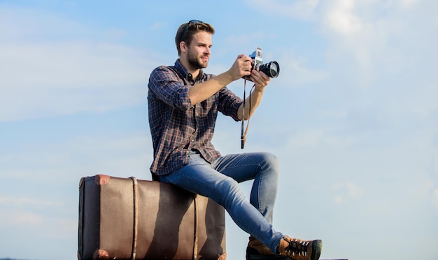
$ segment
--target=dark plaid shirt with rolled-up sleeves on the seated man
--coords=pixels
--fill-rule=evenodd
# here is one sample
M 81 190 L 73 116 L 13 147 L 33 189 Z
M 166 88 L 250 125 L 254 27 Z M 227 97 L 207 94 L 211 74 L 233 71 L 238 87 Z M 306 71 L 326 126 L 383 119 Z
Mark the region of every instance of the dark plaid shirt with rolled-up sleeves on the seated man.
M 190 150 L 196 149 L 210 163 L 220 157 L 211 144 L 218 111 L 239 121 L 237 111 L 243 100 L 227 87 L 205 101 L 192 106 L 188 91 L 192 85 L 215 75 L 200 71 L 197 79 L 181 64 L 160 66 L 150 74 L 148 84 L 149 127 L 154 160 L 150 171 L 166 175 L 190 161 Z

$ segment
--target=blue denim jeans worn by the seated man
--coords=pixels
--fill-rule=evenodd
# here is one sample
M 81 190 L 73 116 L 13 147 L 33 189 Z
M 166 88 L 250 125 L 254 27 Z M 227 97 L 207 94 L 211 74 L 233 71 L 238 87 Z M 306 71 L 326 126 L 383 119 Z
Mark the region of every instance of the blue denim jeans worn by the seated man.
M 239 182 L 254 180 L 248 202 Z M 222 205 L 243 231 L 254 236 L 272 252 L 283 234 L 272 226 L 278 186 L 278 160 L 268 152 L 229 154 L 209 164 L 197 151 L 190 163 L 160 181 L 209 197 Z

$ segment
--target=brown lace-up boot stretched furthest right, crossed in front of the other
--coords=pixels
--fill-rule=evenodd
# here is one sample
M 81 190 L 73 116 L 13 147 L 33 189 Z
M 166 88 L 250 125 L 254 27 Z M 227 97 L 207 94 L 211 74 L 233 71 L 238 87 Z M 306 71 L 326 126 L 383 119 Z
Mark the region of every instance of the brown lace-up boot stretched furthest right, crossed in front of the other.
M 322 240 L 301 240 L 285 236 L 280 240 L 277 254 L 294 260 L 318 260 L 323 250 Z

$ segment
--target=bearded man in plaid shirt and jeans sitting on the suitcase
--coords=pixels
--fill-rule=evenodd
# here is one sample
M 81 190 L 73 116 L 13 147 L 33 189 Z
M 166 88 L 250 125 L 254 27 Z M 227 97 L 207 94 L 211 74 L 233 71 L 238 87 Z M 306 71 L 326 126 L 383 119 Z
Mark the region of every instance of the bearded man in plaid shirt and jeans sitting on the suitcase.
M 319 259 L 321 240 L 304 241 L 275 231 L 272 212 L 277 192 L 278 161 L 267 152 L 222 156 L 211 144 L 218 112 L 242 120 L 243 100 L 227 85 L 249 76 L 255 88 L 248 96 L 259 105 L 270 78 L 251 70 L 252 59 L 239 55 L 220 75 L 206 74 L 214 29 L 198 20 L 181 24 L 175 37 L 179 59 L 150 74 L 148 109 L 153 138 L 155 179 L 169 182 L 222 205 L 234 222 L 250 234 L 248 259 Z M 254 180 L 250 201 L 238 182 Z

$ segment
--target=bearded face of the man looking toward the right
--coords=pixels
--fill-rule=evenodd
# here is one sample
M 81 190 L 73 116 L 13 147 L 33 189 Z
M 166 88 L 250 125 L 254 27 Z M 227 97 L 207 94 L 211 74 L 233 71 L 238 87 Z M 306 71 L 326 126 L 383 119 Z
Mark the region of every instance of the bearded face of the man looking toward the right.
M 206 68 L 211 54 L 211 34 L 199 31 L 194 34 L 187 50 L 187 60 L 192 68 Z

